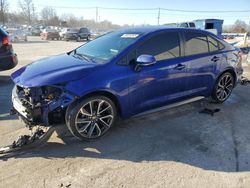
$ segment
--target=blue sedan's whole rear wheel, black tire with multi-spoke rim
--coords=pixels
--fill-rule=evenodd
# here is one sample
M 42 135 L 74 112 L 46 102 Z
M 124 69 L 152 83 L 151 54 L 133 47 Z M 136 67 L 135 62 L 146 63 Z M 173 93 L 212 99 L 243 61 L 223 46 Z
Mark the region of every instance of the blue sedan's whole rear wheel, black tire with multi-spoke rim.
M 223 103 L 231 95 L 234 88 L 235 78 L 229 72 L 222 74 L 216 81 L 212 92 L 212 99 L 215 103 Z

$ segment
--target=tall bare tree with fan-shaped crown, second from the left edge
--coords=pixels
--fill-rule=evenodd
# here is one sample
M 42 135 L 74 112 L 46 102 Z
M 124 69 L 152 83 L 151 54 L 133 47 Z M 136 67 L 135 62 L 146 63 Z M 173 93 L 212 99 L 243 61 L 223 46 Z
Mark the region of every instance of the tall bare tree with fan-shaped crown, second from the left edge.
M 26 18 L 29 25 L 32 24 L 32 21 L 35 19 L 35 6 L 32 0 L 19 0 L 19 6 L 21 12 Z

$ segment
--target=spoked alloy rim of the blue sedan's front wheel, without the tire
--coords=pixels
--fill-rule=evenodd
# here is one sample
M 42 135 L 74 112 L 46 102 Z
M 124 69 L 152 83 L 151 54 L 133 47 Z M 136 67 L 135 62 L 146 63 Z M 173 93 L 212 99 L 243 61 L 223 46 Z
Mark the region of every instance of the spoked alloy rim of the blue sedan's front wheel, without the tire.
M 107 132 L 114 120 L 112 105 L 105 100 L 95 99 L 85 103 L 75 119 L 76 130 L 84 138 L 97 138 Z

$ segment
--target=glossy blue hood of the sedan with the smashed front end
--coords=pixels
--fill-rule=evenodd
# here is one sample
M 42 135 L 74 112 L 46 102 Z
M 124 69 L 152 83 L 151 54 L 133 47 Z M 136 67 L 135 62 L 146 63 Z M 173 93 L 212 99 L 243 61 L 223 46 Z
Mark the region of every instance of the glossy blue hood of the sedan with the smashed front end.
M 98 64 L 62 54 L 22 67 L 14 72 L 11 78 L 17 85 L 23 87 L 54 85 L 85 77 L 97 66 Z

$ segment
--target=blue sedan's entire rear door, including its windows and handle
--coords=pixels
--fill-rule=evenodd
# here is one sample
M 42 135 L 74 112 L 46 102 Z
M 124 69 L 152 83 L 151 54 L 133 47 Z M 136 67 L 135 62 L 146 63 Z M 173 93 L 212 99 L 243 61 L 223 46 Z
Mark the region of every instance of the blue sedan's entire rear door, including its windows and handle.
M 213 87 L 216 63 L 221 61 L 218 43 L 199 31 L 184 31 L 185 61 L 190 95 L 207 95 Z

